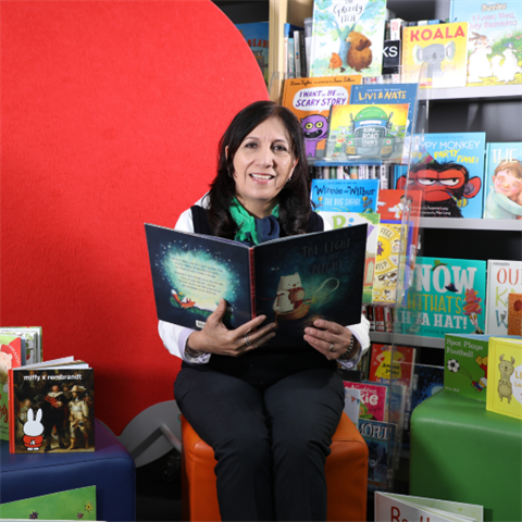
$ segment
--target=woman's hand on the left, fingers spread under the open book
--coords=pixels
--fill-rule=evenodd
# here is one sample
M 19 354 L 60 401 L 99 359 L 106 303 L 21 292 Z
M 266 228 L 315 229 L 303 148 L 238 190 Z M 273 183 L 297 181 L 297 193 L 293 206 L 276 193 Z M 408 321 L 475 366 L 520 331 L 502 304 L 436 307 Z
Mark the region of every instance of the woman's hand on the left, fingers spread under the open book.
M 266 320 L 266 315 L 259 315 L 236 330 L 228 330 L 223 324 L 225 312 L 226 301 L 221 299 L 217 308 L 209 315 L 203 330 L 194 332 L 188 337 L 190 351 L 238 357 L 259 348 L 275 336 L 275 332 L 272 332 L 275 323 L 259 327 Z

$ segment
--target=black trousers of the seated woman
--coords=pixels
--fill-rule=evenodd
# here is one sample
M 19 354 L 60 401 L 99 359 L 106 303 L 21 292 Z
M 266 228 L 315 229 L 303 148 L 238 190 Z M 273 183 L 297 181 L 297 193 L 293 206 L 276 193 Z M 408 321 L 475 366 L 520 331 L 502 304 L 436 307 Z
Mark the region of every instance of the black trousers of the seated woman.
M 324 463 L 345 400 L 339 372 L 306 370 L 259 388 L 183 364 L 174 389 L 214 449 L 224 522 L 326 520 Z

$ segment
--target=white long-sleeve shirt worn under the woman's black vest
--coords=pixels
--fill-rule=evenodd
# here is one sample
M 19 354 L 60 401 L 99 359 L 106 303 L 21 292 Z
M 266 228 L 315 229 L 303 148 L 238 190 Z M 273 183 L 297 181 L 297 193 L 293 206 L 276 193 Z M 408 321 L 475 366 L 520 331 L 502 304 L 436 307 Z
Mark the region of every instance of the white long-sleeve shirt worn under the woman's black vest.
M 196 204 L 206 208 L 208 206 L 206 196 L 203 196 Z M 331 229 L 332 226 L 325 223 L 325 231 Z M 192 213 L 190 209 L 182 213 L 177 220 L 175 229 L 182 232 L 194 232 Z M 356 336 L 357 340 L 361 345 L 361 350 L 349 360 L 337 360 L 343 368 L 351 370 L 361 360 L 361 357 L 370 348 L 370 322 L 361 315 L 361 322 L 359 324 L 351 324 L 347 328 Z M 176 324 L 167 323 L 166 321 L 160 321 L 158 324 L 158 332 L 165 348 L 176 357 L 179 357 L 184 361 L 190 364 L 204 364 L 209 362 L 211 353 L 200 353 L 197 357 L 191 357 L 185 351 L 187 339 L 194 332 L 191 328 L 178 326 Z

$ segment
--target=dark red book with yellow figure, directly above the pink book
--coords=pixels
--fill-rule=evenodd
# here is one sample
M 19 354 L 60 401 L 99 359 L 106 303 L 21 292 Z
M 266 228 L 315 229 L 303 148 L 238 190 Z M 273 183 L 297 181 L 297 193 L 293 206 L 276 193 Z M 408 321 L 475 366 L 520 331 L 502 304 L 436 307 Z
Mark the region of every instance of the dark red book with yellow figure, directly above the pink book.
M 391 363 L 393 352 L 393 363 Z M 415 348 L 409 346 L 382 345 L 372 343 L 370 359 L 369 381 L 374 383 L 401 384 L 411 388 L 413 378 L 413 364 L 415 362 Z

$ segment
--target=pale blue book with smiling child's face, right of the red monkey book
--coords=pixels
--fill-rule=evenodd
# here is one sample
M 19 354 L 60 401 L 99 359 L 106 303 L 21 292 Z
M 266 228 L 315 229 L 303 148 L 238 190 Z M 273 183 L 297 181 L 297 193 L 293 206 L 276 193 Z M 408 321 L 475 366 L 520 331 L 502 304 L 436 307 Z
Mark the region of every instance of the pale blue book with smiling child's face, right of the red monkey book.
M 483 216 L 522 219 L 522 141 L 486 145 Z

